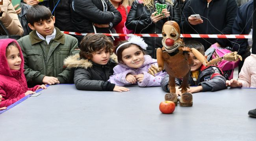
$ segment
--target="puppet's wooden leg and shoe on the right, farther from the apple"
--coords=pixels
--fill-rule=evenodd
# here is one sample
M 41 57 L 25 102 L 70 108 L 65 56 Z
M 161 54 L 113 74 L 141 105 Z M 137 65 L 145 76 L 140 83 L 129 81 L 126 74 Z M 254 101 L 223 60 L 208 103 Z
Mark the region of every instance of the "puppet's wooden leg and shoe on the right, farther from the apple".
M 188 79 L 189 79 L 190 72 L 184 76 L 182 85 L 181 85 L 181 96 L 180 96 L 180 106 L 181 107 L 191 107 L 193 105 L 193 96 L 191 93 L 187 92 L 188 88 Z

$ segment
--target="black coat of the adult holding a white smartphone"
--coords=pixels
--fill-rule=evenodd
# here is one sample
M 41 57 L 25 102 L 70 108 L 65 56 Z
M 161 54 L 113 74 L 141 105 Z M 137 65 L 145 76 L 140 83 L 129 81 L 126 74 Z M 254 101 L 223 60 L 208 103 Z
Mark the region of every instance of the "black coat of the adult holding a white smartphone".
M 232 34 L 232 25 L 237 11 L 236 0 L 212 0 L 207 7 L 207 0 L 188 0 L 180 24 L 181 33 L 184 34 Z M 188 17 L 191 14 L 200 14 L 204 22 L 191 25 Z M 185 42 L 186 39 L 185 38 Z M 230 46 L 227 39 L 220 38 L 194 38 L 208 49 L 218 42 L 222 47 Z M 207 40 L 207 41 L 206 41 Z

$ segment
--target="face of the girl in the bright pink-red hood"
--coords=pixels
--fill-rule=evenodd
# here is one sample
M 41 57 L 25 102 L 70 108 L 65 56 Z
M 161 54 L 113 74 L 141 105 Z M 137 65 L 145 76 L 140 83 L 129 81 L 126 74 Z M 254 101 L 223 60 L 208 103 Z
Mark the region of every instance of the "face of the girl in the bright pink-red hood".
M 20 70 L 20 52 L 19 49 L 13 45 L 10 46 L 9 54 L 6 56 L 7 63 L 11 70 Z

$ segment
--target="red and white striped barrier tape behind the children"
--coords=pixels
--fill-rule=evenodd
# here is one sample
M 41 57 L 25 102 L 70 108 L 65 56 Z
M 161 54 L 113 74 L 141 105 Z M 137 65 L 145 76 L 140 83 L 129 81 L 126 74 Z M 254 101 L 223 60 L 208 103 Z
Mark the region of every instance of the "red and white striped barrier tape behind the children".
M 72 34 L 72 35 L 83 35 L 85 36 L 88 33 L 76 33 L 76 32 L 68 32 L 68 31 L 61 31 L 65 34 Z M 141 37 L 162 37 L 162 34 L 110 34 L 110 33 L 101 33 L 106 36 L 132 36 L 137 35 Z M 225 34 L 180 34 L 180 37 L 182 38 L 239 38 L 239 39 L 251 39 L 252 35 L 239 35 L 239 34 L 233 34 L 233 35 L 225 35 Z

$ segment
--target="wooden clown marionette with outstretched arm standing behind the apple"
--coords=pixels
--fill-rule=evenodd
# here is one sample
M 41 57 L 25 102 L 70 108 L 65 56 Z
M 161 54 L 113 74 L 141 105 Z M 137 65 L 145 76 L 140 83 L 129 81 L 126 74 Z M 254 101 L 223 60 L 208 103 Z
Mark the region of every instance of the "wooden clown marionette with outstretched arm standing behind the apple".
M 179 99 L 180 106 L 191 107 L 193 105 L 193 96 L 191 93 L 187 92 L 187 88 L 189 88 L 188 80 L 190 69 L 194 64 L 189 53 L 193 53 L 205 66 L 216 64 L 222 59 L 228 61 L 242 60 L 237 52 L 231 52 L 225 54 L 223 57 L 208 62 L 196 49 L 185 47 L 183 40 L 180 38 L 179 25 L 174 21 L 165 22 L 162 29 L 162 35 L 163 47 L 158 48 L 156 51 L 158 67 L 152 65 L 148 69 L 148 73 L 154 75 L 164 69 L 169 74 L 170 93 L 165 94 L 165 100 L 173 101 L 175 105 L 177 105 L 178 102 L 175 89 L 175 78 L 183 78 L 182 85 L 180 86 L 182 92 Z

